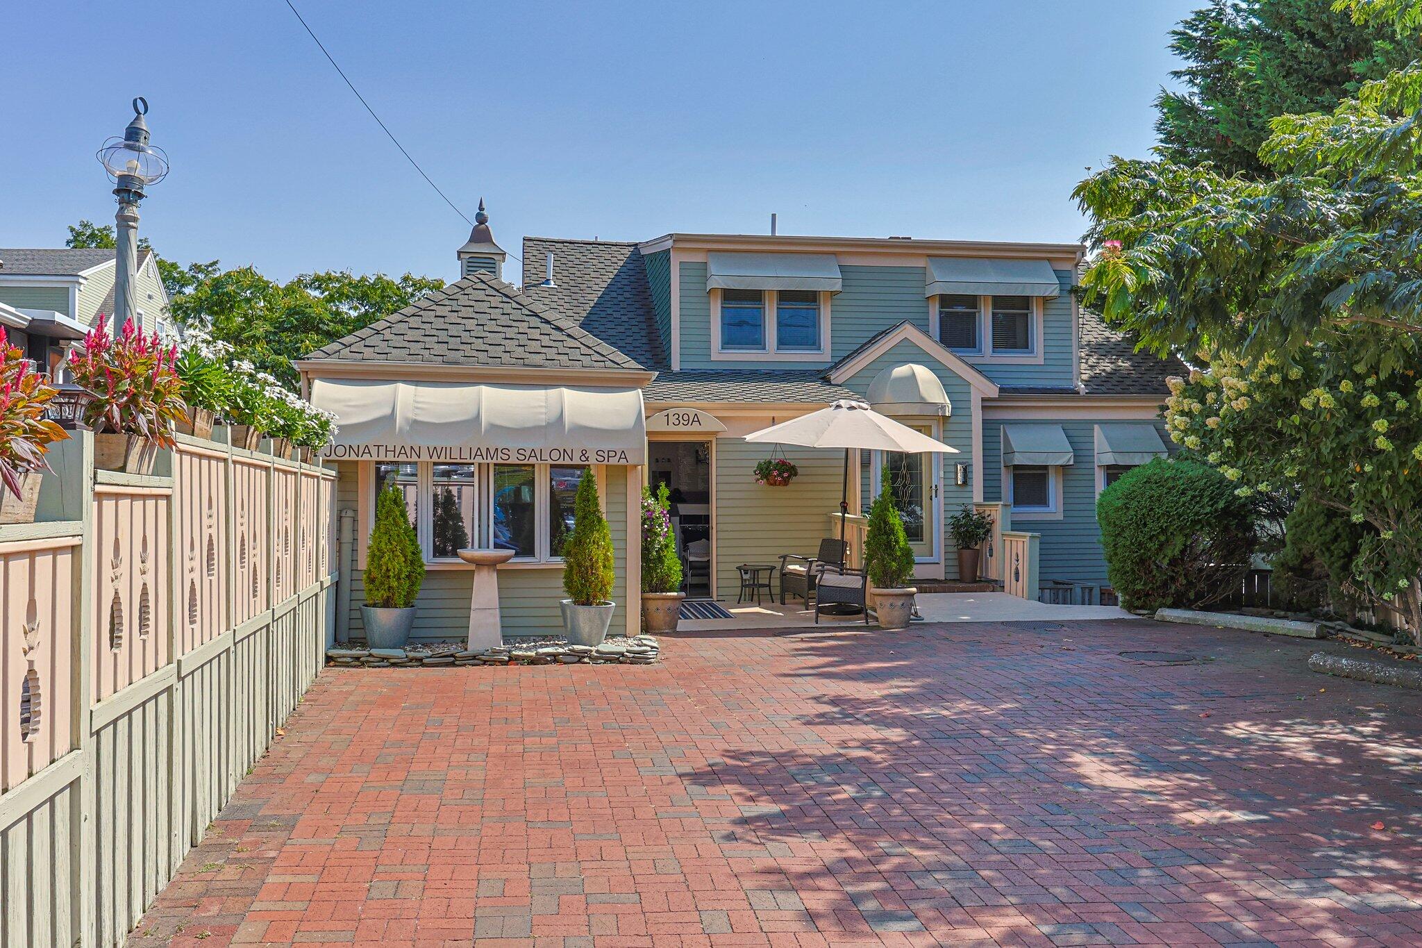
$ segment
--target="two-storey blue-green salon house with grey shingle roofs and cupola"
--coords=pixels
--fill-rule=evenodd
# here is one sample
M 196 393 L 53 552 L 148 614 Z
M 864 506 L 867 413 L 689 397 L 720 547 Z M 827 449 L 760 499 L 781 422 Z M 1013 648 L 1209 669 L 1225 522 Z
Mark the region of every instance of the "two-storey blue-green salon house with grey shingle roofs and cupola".
M 619 492 L 627 486 L 619 509 L 634 510 L 640 483 L 673 490 L 683 549 L 704 542 L 695 551 L 707 553 L 691 557 L 693 593 L 735 597 L 738 564 L 813 553 L 832 532 L 843 455 L 784 446 L 799 478 L 786 488 L 759 486 L 752 469 L 771 451 L 741 436 L 840 398 L 867 399 L 960 452 L 856 452 L 853 509 L 867 509 L 889 478 L 920 578 L 957 576 L 947 519 L 963 505 L 1001 502 L 1011 505 L 1014 529 L 1041 534 L 1044 583 L 1105 583 L 1096 495 L 1128 466 L 1167 453 L 1159 421 L 1165 379 L 1185 368 L 1136 352 L 1076 304 L 1084 253 L 1076 243 L 900 237 L 529 237 L 516 290 L 505 281 L 506 254 L 485 217 L 459 250 L 464 279 L 313 352 L 299 368 L 319 402 L 363 421 L 343 424 L 331 452 L 360 529 L 368 529 L 374 485 L 397 476 L 407 486 L 432 566 L 422 597 L 441 605 L 421 621 L 435 625 L 462 621 L 455 604 L 469 588 L 451 551 L 432 544 L 437 502 L 455 480 L 469 497 L 471 543 L 509 546 L 508 537 L 523 532 L 530 539 L 513 543 L 515 564 L 557 564 L 550 536 L 566 478 L 562 455 L 536 448 L 520 459 L 498 449 L 576 438 L 539 441 L 529 418 L 502 421 L 489 408 L 499 385 L 518 387 L 529 405 L 583 385 L 640 389 L 646 455 L 626 470 L 607 470 Z M 383 385 L 394 392 L 385 408 L 370 398 Z M 458 408 L 476 401 L 482 409 Z M 540 412 L 550 428 L 572 415 Z M 371 418 L 384 421 L 365 424 Z M 610 411 L 606 418 L 610 436 L 621 422 Z M 441 455 L 447 443 L 479 448 Z M 526 488 L 522 500 L 503 503 L 515 482 Z M 553 598 L 557 578 L 550 569 L 543 583 Z M 348 621 L 358 628 L 357 617 Z M 518 607 L 505 621 L 556 625 L 556 617 Z M 627 621 L 630 628 L 630 614 Z

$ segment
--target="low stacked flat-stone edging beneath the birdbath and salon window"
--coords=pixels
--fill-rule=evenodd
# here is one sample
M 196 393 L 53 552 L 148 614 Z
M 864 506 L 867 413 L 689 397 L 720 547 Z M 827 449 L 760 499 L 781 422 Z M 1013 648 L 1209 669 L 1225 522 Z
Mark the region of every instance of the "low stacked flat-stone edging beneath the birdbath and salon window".
M 464 642 L 421 642 L 405 648 L 326 650 L 333 668 L 469 668 L 475 665 L 654 665 L 661 655 L 656 635 L 609 638 L 602 645 L 569 645 L 556 638 L 513 640 L 469 651 Z

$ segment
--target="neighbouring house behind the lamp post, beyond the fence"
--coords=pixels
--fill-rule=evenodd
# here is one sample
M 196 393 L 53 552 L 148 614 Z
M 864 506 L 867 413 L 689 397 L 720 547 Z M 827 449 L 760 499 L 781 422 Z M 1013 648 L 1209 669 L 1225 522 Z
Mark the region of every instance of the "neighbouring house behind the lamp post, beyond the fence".
M 0 247 L 0 303 L 27 320 L 7 330 L 10 338 L 53 370 L 68 344 L 84 338 L 101 316 L 112 317 L 115 271 L 114 250 Z M 152 250 L 138 252 L 137 287 L 139 327 L 168 328 L 168 291 Z

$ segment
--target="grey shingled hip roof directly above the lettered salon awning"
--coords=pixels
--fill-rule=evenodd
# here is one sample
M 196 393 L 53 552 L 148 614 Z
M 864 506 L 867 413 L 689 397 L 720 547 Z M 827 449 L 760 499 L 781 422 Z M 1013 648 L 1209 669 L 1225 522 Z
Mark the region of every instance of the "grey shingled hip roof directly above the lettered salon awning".
M 474 273 L 311 352 L 313 360 L 637 370 L 616 348 L 489 273 Z

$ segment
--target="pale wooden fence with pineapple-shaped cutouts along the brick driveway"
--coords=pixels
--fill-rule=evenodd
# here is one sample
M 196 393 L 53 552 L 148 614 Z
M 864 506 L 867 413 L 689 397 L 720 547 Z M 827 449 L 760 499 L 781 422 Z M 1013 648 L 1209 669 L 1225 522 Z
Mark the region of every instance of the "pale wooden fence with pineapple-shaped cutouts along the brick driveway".
M 219 438 L 0 526 L 4 948 L 122 944 L 321 667 L 334 473 Z

